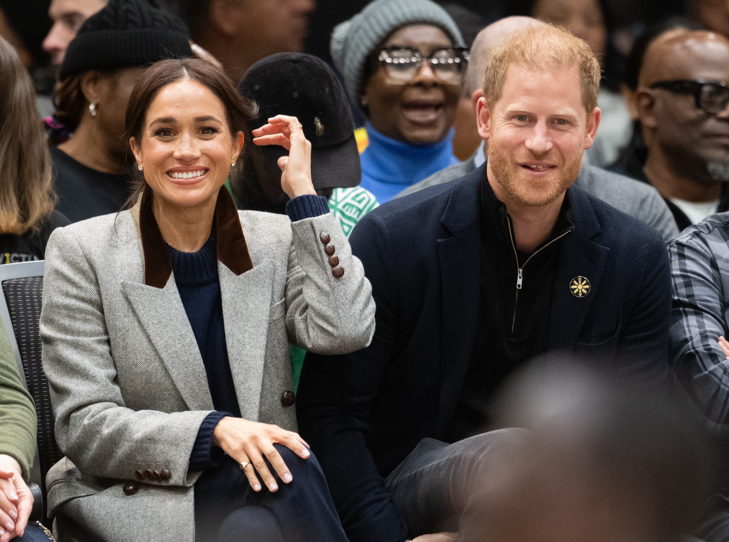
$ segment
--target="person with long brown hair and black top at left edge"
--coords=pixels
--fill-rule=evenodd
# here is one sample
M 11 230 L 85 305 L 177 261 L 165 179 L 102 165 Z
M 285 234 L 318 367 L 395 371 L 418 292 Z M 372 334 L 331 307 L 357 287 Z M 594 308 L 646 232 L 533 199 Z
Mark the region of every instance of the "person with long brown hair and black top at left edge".
M 0 264 L 44 259 L 53 229 L 69 224 L 54 198 L 33 82 L 0 37 Z

